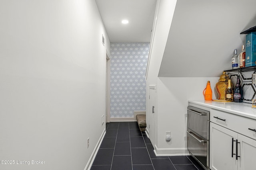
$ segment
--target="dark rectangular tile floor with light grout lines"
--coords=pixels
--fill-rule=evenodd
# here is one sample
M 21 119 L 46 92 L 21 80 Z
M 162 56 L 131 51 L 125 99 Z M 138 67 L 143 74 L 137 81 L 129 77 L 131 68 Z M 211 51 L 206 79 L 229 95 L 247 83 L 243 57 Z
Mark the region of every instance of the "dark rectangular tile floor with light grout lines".
M 156 156 L 137 122 L 111 122 L 91 170 L 203 170 L 191 156 Z

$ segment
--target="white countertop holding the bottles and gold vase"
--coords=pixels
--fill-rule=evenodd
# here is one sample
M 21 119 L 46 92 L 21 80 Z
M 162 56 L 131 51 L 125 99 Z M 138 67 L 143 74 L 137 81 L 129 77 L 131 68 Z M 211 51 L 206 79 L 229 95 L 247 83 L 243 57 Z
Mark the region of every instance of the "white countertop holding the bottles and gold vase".
M 256 120 L 256 108 L 253 109 L 252 104 L 205 100 L 188 100 L 188 102 Z

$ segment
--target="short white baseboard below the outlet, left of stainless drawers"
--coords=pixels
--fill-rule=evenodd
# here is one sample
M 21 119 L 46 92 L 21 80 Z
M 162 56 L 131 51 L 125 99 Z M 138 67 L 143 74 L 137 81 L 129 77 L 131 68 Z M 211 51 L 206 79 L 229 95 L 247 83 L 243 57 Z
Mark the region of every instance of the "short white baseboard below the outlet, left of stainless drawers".
M 188 156 L 189 151 L 187 148 L 157 148 L 155 145 L 154 150 L 156 156 Z

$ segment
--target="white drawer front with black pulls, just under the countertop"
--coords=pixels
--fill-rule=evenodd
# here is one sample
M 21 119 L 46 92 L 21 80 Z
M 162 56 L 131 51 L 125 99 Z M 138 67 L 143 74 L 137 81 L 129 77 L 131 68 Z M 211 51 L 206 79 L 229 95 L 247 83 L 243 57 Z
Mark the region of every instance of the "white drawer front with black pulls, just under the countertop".
M 256 139 L 256 121 L 230 113 L 210 109 L 210 121 L 232 131 Z

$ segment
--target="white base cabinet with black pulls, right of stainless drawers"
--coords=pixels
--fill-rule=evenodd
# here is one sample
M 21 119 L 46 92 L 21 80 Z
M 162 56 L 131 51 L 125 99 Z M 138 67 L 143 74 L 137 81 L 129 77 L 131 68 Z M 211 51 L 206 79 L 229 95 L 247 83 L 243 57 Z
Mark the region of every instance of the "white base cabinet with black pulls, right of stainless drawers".
M 214 109 L 210 121 L 210 169 L 256 169 L 256 121 Z

